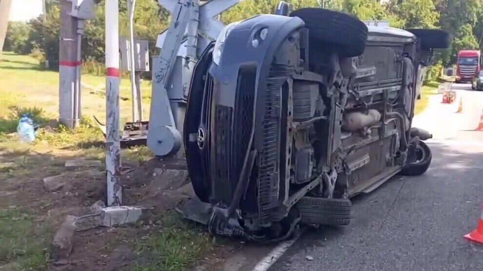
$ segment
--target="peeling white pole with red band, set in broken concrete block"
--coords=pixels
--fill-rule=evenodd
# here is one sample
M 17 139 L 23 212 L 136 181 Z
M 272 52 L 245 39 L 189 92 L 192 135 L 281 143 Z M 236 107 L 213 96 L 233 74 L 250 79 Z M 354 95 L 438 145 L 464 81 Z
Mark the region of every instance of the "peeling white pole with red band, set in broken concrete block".
M 122 204 L 119 133 L 119 3 L 106 0 L 106 170 L 107 204 Z

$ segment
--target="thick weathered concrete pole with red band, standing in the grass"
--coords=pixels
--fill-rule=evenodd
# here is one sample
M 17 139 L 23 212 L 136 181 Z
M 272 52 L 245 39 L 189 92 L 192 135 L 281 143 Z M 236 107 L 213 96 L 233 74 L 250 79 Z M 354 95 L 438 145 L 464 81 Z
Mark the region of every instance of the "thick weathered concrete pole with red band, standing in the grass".
M 80 118 L 79 91 L 77 84 L 78 66 L 82 63 L 78 55 L 80 40 L 77 33 L 78 19 L 70 16 L 72 2 L 60 1 L 59 41 L 59 121 L 74 128 Z

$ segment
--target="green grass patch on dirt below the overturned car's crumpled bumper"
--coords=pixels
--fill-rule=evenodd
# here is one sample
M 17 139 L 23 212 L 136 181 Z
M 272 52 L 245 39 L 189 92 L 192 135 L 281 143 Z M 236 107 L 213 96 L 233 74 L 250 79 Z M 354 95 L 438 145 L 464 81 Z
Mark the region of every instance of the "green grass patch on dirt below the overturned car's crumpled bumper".
M 136 264 L 133 271 L 184 271 L 212 249 L 211 237 L 204 227 L 186 223 L 174 213 L 165 215 L 163 227 L 146 241 L 139 240 L 137 250 L 151 264 Z

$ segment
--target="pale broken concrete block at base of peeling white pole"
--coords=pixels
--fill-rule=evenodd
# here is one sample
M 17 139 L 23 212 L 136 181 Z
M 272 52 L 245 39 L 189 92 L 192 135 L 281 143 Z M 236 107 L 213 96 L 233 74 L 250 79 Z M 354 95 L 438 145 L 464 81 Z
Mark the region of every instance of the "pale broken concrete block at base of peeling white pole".
M 100 212 L 101 225 L 104 227 L 116 227 L 124 224 L 132 224 L 142 219 L 146 209 L 134 206 L 111 206 L 103 208 Z

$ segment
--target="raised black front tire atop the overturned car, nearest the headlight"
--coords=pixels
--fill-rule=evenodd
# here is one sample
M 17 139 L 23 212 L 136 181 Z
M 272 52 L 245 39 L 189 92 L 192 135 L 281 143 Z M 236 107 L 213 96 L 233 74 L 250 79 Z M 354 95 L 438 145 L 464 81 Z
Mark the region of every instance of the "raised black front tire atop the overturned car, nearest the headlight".
M 328 45 L 341 57 L 364 53 L 367 26 L 348 14 L 322 8 L 295 10 L 291 17 L 301 18 L 309 29 L 309 47 L 317 49 Z

